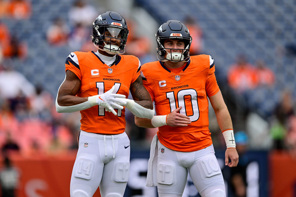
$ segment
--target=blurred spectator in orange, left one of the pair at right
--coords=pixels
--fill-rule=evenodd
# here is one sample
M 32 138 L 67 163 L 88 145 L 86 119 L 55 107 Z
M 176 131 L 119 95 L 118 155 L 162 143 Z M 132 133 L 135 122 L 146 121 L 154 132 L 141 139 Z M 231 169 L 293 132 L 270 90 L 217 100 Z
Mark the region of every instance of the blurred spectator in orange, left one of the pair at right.
M 253 89 L 257 84 L 255 67 L 247 62 L 245 55 L 237 56 L 237 63 L 229 67 L 228 83 L 231 88 L 239 93 Z

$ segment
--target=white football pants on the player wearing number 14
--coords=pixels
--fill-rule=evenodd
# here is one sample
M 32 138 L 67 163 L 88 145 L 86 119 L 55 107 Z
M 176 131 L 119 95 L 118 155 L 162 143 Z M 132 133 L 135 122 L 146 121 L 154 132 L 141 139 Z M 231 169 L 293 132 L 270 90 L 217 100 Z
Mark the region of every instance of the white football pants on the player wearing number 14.
M 99 135 L 80 131 L 74 163 L 71 197 L 122 197 L 129 177 L 130 140 L 126 133 Z

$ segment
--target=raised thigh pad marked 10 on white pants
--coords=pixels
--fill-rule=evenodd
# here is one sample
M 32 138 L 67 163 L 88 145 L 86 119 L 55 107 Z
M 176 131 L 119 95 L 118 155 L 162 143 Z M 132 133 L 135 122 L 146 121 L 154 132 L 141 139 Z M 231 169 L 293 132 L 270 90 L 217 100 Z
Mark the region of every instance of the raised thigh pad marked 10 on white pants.
M 221 174 L 221 169 L 215 155 L 203 158 L 197 163 L 203 180 L 207 180 L 214 175 Z

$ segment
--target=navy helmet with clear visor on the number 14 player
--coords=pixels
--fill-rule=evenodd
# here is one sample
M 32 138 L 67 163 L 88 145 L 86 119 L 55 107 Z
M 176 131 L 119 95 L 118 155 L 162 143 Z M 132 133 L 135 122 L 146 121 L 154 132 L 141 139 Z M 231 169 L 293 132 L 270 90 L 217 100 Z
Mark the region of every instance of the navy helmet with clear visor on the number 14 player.
M 128 39 L 126 20 L 117 12 L 104 12 L 93 23 L 93 36 L 91 38 L 95 46 L 98 45 L 103 48 L 97 47 L 100 50 L 104 50 L 109 54 L 122 54 L 120 51 L 124 50 Z M 110 38 L 110 41 L 105 41 L 105 38 Z M 111 44 L 111 38 L 120 39 L 120 45 Z

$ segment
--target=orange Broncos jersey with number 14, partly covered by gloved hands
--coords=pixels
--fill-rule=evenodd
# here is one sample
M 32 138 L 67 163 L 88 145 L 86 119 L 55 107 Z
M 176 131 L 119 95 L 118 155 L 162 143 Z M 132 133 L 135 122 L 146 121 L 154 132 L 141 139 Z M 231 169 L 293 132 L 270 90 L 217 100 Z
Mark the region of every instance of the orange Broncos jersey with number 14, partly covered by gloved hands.
M 93 51 L 76 51 L 67 57 L 65 66 L 66 71 L 72 71 L 81 80 L 78 97 L 100 95 L 116 85 L 116 93 L 126 95 L 127 98 L 131 83 L 140 75 L 139 59 L 131 55 L 117 55 L 115 64 L 109 67 Z M 99 105 L 81 110 L 81 130 L 91 133 L 123 133 L 126 127 L 125 108 L 115 111 L 116 116 Z

